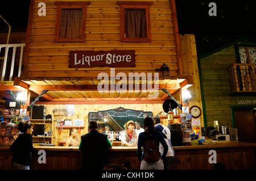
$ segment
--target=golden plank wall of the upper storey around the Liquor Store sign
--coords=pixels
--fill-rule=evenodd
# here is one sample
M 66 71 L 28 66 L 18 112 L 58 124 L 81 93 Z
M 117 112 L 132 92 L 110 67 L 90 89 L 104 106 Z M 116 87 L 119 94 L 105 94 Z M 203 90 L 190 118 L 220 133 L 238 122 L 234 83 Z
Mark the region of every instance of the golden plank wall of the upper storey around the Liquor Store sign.
M 55 0 L 54 0 L 55 1 Z M 90 1 L 87 7 L 85 42 L 55 43 L 56 5 L 53 0 L 35 0 L 31 24 L 27 77 L 97 77 L 110 68 L 68 68 L 70 50 L 135 50 L 135 68 L 116 68 L 118 72 L 155 72 L 166 63 L 170 74 L 178 74 L 174 21 L 168 0 L 150 6 L 152 41 L 120 41 L 120 7 L 117 1 Z M 137 0 L 136 0 L 137 1 Z M 38 15 L 38 3 L 46 3 L 46 16 Z

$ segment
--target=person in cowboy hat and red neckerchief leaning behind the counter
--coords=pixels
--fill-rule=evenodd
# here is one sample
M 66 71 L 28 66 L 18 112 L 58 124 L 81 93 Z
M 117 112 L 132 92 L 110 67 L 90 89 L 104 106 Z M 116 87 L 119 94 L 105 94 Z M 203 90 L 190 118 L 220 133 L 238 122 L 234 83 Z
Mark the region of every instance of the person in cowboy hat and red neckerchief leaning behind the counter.
M 134 121 L 128 121 L 123 127 L 125 131 L 121 133 L 121 146 L 137 146 L 137 144 L 132 142 L 133 138 L 137 138 L 137 133 L 134 131 L 135 128 Z

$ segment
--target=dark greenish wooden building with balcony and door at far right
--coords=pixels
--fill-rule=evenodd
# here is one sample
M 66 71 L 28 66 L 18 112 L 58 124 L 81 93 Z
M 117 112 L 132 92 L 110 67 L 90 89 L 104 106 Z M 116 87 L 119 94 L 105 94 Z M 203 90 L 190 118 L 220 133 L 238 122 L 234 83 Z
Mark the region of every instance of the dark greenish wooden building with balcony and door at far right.
M 237 128 L 238 141 L 255 142 L 256 41 L 243 37 L 199 57 L 204 125 Z

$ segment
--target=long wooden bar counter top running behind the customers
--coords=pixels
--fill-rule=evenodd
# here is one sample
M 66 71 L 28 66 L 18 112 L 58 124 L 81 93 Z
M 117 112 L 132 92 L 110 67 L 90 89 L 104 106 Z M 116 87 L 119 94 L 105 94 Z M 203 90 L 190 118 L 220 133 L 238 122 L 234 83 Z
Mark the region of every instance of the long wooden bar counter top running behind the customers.
M 191 150 L 191 149 L 210 149 L 210 148 L 234 148 L 234 147 L 251 147 L 256 143 L 237 142 L 237 141 L 216 141 L 214 145 L 191 145 L 191 146 L 173 146 L 174 150 Z M 0 150 L 9 150 L 9 146 L 0 147 Z M 35 150 L 49 151 L 79 151 L 78 146 L 34 146 Z M 113 146 L 110 151 L 137 151 L 137 147 Z

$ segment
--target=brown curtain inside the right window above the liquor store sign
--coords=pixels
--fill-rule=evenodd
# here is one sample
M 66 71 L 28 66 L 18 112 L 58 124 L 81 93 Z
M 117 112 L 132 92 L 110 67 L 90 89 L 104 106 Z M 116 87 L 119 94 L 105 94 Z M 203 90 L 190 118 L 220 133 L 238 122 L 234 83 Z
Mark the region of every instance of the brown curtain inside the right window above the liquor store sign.
M 125 9 L 125 37 L 146 38 L 146 9 Z

